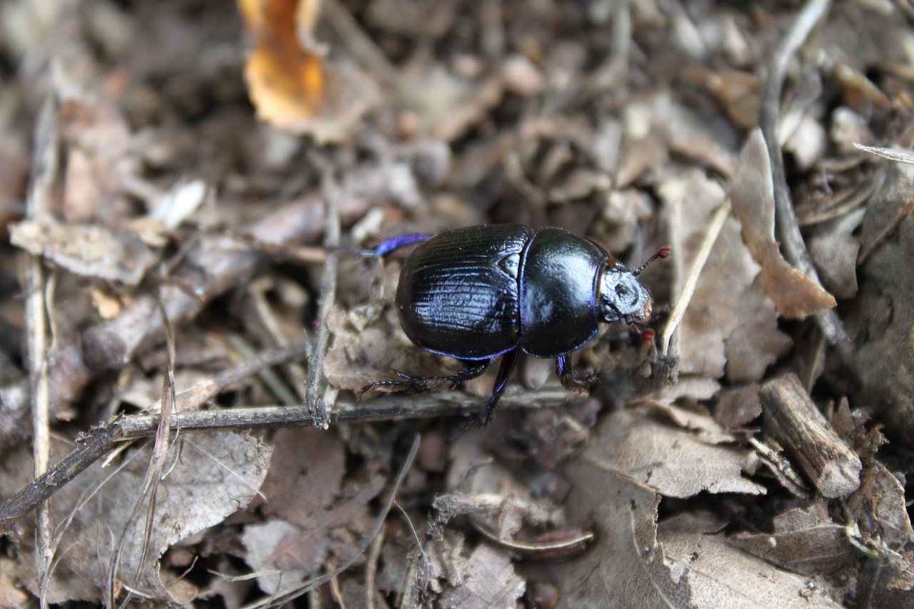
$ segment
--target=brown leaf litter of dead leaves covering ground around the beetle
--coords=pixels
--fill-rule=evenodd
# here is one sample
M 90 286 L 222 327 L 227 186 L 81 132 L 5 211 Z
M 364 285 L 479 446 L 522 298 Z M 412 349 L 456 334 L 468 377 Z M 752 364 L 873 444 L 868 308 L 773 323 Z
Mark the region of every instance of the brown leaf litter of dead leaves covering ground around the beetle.
M 911 604 L 908 8 L 46 8 L 0 11 L 0 226 L 12 246 L 0 251 L 0 499 L 34 475 L 33 408 L 59 436 L 52 466 L 97 441 L 100 420 L 149 416 L 168 324 L 176 389 L 219 388 L 186 394 L 197 402 L 175 420 L 256 414 L 181 431 L 154 506 L 137 503 L 147 448 L 122 446 L 104 467 L 93 457 L 54 487 L 55 527 L 85 503 L 53 529 L 53 548 L 36 547 L 41 512 L 0 518 L 0 604 L 33 602 L 35 557 L 48 555 L 45 599 L 60 604 L 262 606 L 352 561 L 315 602 Z M 768 80 L 779 73 L 782 90 Z M 780 134 L 766 142 L 770 91 L 782 92 Z M 56 131 L 39 128 L 46 99 Z M 800 243 L 783 229 L 781 175 Z M 299 429 L 311 421 L 295 397 L 302 366 L 262 379 L 219 369 L 319 329 L 326 205 L 342 219 L 341 260 L 390 235 L 482 222 L 562 226 L 628 262 L 671 243 L 673 258 L 641 278 L 658 326 L 680 298 L 685 314 L 656 358 L 624 328 L 601 333 L 573 362 L 600 369 L 600 383 L 565 410 L 526 399 L 561 391 L 552 364 L 522 363 L 507 401 L 524 408 L 445 443 L 462 423 L 412 421 L 418 396 L 354 402 L 391 369 L 454 364 L 399 329 L 401 257 L 344 261 L 317 389 L 331 416 L 345 405 L 377 419 L 387 403 L 391 422 Z M 798 250 L 821 284 L 794 267 Z M 48 272 L 44 317 L 27 316 L 16 256 Z M 824 312 L 852 342 L 829 343 Z M 21 347 L 36 323 L 49 329 L 45 404 L 29 402 L 41 371 Z M 824 411 L 816 425 L 836 433 L 774 437 L 792 404 L 760 392 L 790 372 L 799 401 Z M 491 374 L 467 389 L 486 395 Z M 443 408 L 453 395 L 431 399 Z M 356 555 L 416 429 L 401 510 Z M 816 459 L 838 453 L 862 469 L 856 490 L 826 499 Z M 153 520 L 127 531 L 118 598 L 106 599 L 137 505 Z

